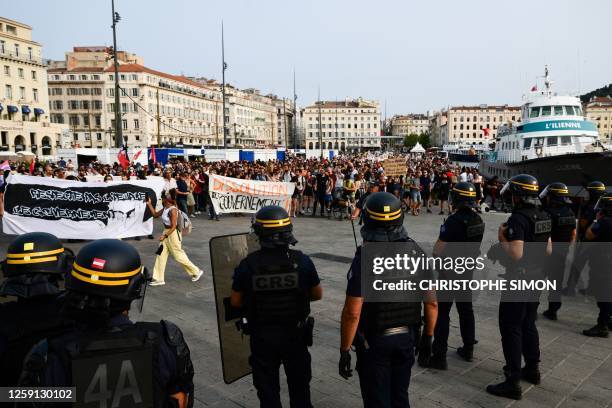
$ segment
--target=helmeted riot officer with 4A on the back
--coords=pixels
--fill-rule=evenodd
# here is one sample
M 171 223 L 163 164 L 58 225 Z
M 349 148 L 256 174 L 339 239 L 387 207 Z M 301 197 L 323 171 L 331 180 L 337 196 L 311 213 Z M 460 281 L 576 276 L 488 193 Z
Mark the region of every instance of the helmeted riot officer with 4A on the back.
M 99 406 L 191 407 L 194 371 L 181 330 L 128 318 L 148 280 L 126 242 L 83 246 L 66 276 L 63 309 L 77 327 L 32 348 L 20 385 L 74 386 L 78 402 Z

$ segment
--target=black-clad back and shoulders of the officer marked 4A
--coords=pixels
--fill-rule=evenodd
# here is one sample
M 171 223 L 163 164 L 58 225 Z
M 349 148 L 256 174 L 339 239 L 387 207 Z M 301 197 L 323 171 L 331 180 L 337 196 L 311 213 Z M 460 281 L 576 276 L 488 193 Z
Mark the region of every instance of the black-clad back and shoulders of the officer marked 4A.
M 178 331 L 178 335 L 177 335 Z M 165 342 L 176 357 L 176 367 L 165 367 L 160 345 Z M 139 322 L 113 326 L 99 331 L 74 331 L 34 347 L 24 363 L 22 386 L 49 385 L 41 380 L 47 354 L 56 355 L 66 376 L 66 384 L 76 387 L 82 407 L 118 408 L 174 407 L 168 389 L 187 394 L 193 405 L 193 365 L 189 348 L 180 330 L 166 321 Z M 170 371 L 171 384 L 162 383 L 161 370 Z M 187 388 L 187 389 L 186 389 Z

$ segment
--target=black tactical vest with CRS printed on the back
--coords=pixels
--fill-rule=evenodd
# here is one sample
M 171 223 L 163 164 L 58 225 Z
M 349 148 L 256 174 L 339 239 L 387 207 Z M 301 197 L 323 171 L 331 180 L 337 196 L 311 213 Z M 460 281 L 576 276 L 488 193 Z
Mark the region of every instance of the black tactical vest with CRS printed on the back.
M 310 314 L 308 290 L 300 287 L 300 251 L 255 251 L 246 261 L 251 289 L 246 292 L 249 325 L 295 327 Z

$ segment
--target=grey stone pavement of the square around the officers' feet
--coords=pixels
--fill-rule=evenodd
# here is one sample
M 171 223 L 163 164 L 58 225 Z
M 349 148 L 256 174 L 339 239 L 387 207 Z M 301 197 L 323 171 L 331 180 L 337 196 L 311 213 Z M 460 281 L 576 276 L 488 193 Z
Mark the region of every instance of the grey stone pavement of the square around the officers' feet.
M 505 214 L 483 215 L 487 223 L 485 240 L 497 237 L 498 225 Z M 423 214 L 407 216 L 405 225 L 418 242 L 433 242 L 442 216 Z M 170 260 L 166 271 L 166 285 L 147 291 L 145 310 L 135 320 L 168 319 L 177 323 L 185 333 L 195 365 L 197 407 L 257 407 L 259 406 L 251 377 L 231 385 L 223 382 L 219 358 L 214 293 L 210 274 L 208 240 L 216 235 L 246 232 L 250 217 L 227 216 L 219 222 L 204 218 L 194 219 L 194 232 L 185 237 L 184 247 L 192 261 L 205 270 L 204 277 L 192 283 L 188 276 Z M 156 237 L 159 225 L 156 228 Z M 297 248 L 313 257 L 324 288 L 324 299 L 313 303 L 315 340 L 312 354 L 312 399 L 315 407 L 361 406 L 359 383 L 356 376 L 349 381 L 337 373 L 339 320 L 348 263 L 343 259 L 353 256 L 355 245 L 351 224 L 302 217 L 295 220 Z M 0 236 L 0 253 L 4 255 L 10 237 Z M 145 264 L 152 268 L 157 240 L 129 241 L 141 253 Z M 81 244 L 67 244 L 78 249 Z M 329 260 L 328 255 L 340 256 Z M 321 256 L 321 255 L 319 255 Z M 325 259 L 324 259 L 325 258 Z M 544 299 L 546 295 L 542 295 Z M 542 348 L 540 386 L 523 383 L 524 397 L 510 401 L 488 395 L 487 384 L 501 380 L 503 354 L 497 325 L 497 299 L 482 296 L 475 304 L 476 330 L 479 340 L 475 359 L 468 363 L 455 356 L 461 345 L 456 312 L 451 315 L 449 339 L 449 369 L 446 372 L 413 368 L 410 400 L 413 407 L 609 407 L 612 406 L 612 338 L 591 339 L 581 334 L 596 319 L 597 308 L 592 299 L 571 298 L 560 311 L 556 322 L 539 319 Z M 540 310 L 543 310 L 541 308 Z M 353 362 L 355 360 L 353 359 Z M 281 370 L 282 371 L 282 370 Z M 288 406 L 288 394 L 281 374 L 283 404 Z

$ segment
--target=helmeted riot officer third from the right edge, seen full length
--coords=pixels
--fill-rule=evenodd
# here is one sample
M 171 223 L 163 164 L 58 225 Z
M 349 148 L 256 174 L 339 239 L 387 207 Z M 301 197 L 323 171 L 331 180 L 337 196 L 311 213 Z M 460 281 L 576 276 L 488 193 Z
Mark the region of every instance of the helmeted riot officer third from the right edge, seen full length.
M 540 193 L 542 209 L 551 218 L 550 240 L 552 241 L 552 254 L 547 259 L 546 276 L 556 283 L 556 290 L 548 293 L 548 309 L 542 313 L 550 320 L 557 320 L 557 312 L 561 308 L 561 287 L 563 285 L 563 272 L 565 259 L 572 242 L 576 239 L 576 215 L 570 208 L 567 186 L 560 182 L 550 183 Z

